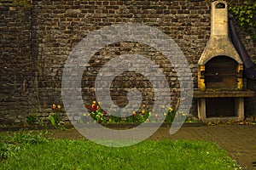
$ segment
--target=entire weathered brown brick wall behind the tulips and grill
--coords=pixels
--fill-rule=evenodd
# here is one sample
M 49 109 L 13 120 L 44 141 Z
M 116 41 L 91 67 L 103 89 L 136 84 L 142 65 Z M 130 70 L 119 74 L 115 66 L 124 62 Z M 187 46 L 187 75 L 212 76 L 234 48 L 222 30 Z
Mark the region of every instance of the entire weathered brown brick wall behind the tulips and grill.
M 24 121 L 29 111 L 44 116 L 53 103 L 61 103 L 63 66 L 73 48 L 91 31 L 123 22 L 153 26 L 172 37 L 189 62 L 197 88 L 197 62 L 210 37 L 210 3 L 182 0 L 38 0 L 32 1 L 31 8 L 10 4 L 1 3 L 0 16 L 0 110 L 4 121 Z M 239 35 L 255 59 L 255 42 L 245 32 L 241 31 Z M 171 104 L 175 105 L 179 85 L 172 65 L 154 48 L 136 42 L 115 43 L 91 57 L 82 80 L 84 102 L 95 99 L 94 81 L 102 65 L 127 53 L 143 54 L 163 68 L 171 87 Z M 148 80 L 142 75 L 125 73 L 115 78 L 111 89 L 113 100 L 118 105 L 127 103 L 126 91 L 121 87 L 129 86 L 139 87 L 143 94 L 148 94 L 145 102 L 152 104 L 150 99 L 154 94 Z M 144 90 L 145 86 L 147 90 Z M 256 102 L 255 99 L 251 101 Z M 191 112 L 196 115 L 196 105 L 193 106 Z M 247 109 L 251 114 L 253 108 Z

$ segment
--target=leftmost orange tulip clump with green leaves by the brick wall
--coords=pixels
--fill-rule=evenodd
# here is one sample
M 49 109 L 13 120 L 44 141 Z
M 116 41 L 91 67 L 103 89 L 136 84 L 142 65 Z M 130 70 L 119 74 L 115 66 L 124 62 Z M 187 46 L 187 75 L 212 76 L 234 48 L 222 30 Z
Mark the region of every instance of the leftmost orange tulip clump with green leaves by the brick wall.
M 52 105 L 52 111 L 49 116 L 49 122 L 54 126 L 54 127 L 60 127 L 61 124 L 64 124 L 64 122 L 61 121 L 61 105 Z

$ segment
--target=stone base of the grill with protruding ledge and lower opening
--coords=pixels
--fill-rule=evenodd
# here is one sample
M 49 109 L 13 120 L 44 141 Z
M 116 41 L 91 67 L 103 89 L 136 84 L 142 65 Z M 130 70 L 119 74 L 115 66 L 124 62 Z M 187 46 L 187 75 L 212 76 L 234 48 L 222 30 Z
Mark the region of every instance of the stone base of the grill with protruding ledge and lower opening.
M 254 93 L 249 90 L 195 90 L 194 98 L 198 99 L 198 118 L 202 122 L 244 120 L 244 98 L 253 95 Z

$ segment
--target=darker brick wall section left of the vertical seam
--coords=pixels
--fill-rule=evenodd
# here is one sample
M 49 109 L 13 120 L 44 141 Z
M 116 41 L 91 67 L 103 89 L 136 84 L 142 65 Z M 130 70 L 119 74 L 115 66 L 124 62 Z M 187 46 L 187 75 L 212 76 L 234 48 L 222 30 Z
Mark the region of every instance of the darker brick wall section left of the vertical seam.
M 0 123 L 26 119 L 32 88 L 31 8 L 0 3 Z

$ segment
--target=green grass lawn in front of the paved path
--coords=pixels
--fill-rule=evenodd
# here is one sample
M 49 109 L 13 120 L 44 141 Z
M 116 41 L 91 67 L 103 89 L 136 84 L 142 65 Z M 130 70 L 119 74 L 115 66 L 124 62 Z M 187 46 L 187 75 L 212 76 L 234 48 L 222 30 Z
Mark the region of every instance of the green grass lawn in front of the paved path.
M 0 136 L 0 169 L 236 169 L 216 144 L 146 140 L 110 148 L 89 140 L 48 139 L 44 133 Z

